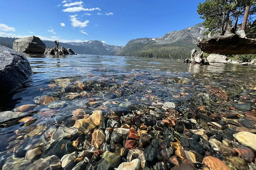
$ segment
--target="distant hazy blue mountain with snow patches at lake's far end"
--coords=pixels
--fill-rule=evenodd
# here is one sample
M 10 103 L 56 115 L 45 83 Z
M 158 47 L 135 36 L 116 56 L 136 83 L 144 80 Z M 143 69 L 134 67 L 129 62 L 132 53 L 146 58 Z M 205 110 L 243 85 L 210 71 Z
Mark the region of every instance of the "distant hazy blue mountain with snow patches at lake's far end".
M 87 41 L 83 43 L 67 43 L 74 46 L 85 47 L 91 54 L 105 54 L 113 55 L 114 53 L 123 49 L 123 46 L 111 46 L 103 43 L 102 41 Z

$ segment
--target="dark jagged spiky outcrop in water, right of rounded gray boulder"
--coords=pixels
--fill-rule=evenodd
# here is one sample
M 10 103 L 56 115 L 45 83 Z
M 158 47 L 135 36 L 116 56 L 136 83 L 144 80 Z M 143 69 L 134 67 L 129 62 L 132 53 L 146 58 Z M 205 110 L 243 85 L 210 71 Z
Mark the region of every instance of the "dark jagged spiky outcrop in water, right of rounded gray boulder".
M 53 48 L 46 48 L 44 54 L 50 55 L 76 55 L 70 48 L 66 49 L 64 47 L 59 47 L 59 42 L 54 41 L 55 46 Z

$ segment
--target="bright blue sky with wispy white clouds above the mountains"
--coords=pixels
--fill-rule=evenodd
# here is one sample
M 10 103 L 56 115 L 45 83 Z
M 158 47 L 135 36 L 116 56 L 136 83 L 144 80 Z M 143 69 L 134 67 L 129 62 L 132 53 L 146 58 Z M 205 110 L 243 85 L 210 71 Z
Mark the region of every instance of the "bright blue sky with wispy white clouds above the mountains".
M 125 46 L 134 38 L 156 38 L 202 22 L 196 10 L 204 1 L 2 0 L 0 36 Z

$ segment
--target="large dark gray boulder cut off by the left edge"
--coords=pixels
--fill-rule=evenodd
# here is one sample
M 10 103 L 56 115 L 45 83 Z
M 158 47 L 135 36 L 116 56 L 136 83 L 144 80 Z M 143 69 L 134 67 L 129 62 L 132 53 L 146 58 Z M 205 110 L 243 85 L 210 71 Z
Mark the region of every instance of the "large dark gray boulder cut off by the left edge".
M 17 51 L 0 46 L 0 94 L 14 90 L 32 74 L 28 59 Z

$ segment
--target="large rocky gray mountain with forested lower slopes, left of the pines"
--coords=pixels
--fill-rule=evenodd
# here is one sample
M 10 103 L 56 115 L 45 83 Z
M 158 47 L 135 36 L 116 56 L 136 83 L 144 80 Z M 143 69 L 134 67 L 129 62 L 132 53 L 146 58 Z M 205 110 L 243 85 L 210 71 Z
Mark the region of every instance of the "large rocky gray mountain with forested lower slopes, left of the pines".
M 191 50 L 198 48 L 197 38 L 203 37 L 207 29 L 202 23 L 181 31 L 172 31 L 158 38 L 132 39 L 116 55 L 157 57 L 157 58 L 188 58 Z

